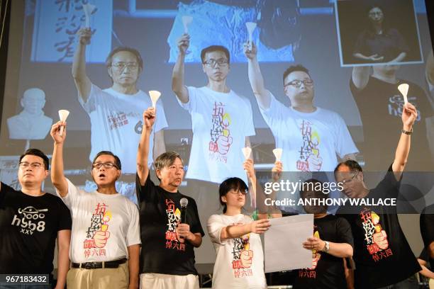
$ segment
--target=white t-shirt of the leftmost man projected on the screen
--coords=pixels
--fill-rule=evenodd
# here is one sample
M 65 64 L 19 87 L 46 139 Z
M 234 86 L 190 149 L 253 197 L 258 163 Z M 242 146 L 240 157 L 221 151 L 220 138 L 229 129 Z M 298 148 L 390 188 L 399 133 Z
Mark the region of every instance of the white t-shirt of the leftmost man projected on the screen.
M 148 94 L 121 94 L 113 89 L 101 90 L 92 84 L 87 102 L 79 96 L 79 101 L 91 120 L 92 161 L 102 150 L 109 150 L 121 159 L 122 171 L 135 174 L 136 156 L 143 127 L 143 111 L 152 106 Z M 167 120 L 162 101 L 157 101 L 157 119 L 150 135 L 148 165 L 153 162 L 154 134 L 167 128 Z

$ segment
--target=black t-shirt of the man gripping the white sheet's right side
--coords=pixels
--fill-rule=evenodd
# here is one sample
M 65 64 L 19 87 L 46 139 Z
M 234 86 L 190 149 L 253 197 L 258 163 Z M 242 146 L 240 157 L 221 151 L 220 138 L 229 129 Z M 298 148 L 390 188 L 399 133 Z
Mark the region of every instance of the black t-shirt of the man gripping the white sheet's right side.
M 313 219 L 313 236 L 323 241 L 353 246 L 350 224 L 343 217 L 327 215 Z M 296 273 L 296 289 L 346 289 L 343 259 L 323 251 L 312 251 L 311 268 Z

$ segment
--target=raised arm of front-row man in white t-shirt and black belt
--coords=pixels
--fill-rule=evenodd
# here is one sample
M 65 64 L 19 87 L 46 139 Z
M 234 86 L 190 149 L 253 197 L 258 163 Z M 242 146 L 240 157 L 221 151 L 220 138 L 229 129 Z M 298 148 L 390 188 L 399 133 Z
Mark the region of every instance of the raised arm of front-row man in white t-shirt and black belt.
M 60 136 L 60 127 L 64 127 L 63 135 Z M 66 123 L 58 121 L 51 127 L 50 135 L 54 140 L 54 149 L 51 160 L 51 181 L 57 188 L 60 196 L 65 198 L 68 193 L 68 182 L 63 174 L 63 144 L 66 139 Z

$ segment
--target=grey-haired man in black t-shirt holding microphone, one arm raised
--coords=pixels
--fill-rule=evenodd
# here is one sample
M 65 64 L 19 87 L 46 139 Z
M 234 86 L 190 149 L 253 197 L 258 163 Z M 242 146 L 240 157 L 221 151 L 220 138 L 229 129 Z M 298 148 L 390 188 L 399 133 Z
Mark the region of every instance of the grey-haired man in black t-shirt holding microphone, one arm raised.
M 194 247 L 202 243 L 196 202 L 179 193 L 184 165 L 176 152 L 165 152 L 155 159 L 160 184 L 150 180 L 149 139 L 155 121 L 154 108 L 143 113 L 143 131 L 137 155 L 137 198 L 143 250 L 140 256 L 140 288 L 199 288 L 194 268 Z M 182 198 L 188 200 L 186 221 L 181 221 Z

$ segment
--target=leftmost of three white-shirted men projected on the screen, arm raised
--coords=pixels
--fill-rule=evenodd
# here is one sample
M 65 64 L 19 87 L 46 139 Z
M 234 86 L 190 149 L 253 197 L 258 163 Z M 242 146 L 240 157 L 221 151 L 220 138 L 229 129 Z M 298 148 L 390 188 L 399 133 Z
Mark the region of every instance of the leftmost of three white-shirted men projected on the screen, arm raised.
M 102 150 L 113 152 L 121 159 L 124 174 L 135 174 L 135 152 L 142 129 L 142 113 L 152 102 L 148 94 L 137 89 L 143 71 L 140 53 L 130 47 L 118 47 L 106 60 L 113 85 L 100 89 L 86 74 L 85 52 L 91 38 L 90 28 L 78 32 L 79 42 L 72 63 L 72 77 L 77 87 L 79 102 L 91 120 L 91 153 L 94 159 Z M 151 135 L 149 162 L 153 156 L 166 151 L 163 129 L 167 128 L 162 101 L 157 101 L 158 120 Z

